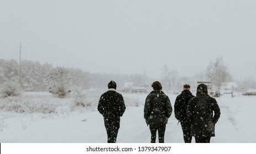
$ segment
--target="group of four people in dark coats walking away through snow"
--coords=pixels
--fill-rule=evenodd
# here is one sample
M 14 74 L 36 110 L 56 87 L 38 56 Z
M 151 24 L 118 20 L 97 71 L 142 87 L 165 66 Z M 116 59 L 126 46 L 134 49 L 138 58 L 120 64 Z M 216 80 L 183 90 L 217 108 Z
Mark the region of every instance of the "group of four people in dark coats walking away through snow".
M 120 127 L 120 117 L 126 106 L 123 96 L 116 91 L 114 81 L 108 83 L 108 91 L 101 95 L 98 111 L 104 117 L 107 130 L 107 142 L 116 142 Z M 159 81 L 151 87 L 153 91 L 145 99 L 144 118 L 149 125 L 151 143 L 156 141 L 158 132 L 159 143 L 164 142 L 164 134 L 168 119 L 173 112 L 169 97 L 162 91 Z M 215 136 L 215 124 L 220 118 L 220 107 L 215 98 L 208 95 L 207 86 L 197 86 L 196 96 L 190 92 L 190 85 L 184 85 L 183 91 L 176 97 L 174 104 L 175 118 L 181 123 L 185 143 L 190 143 L 195 136 L 196 143 L 210 142 Z

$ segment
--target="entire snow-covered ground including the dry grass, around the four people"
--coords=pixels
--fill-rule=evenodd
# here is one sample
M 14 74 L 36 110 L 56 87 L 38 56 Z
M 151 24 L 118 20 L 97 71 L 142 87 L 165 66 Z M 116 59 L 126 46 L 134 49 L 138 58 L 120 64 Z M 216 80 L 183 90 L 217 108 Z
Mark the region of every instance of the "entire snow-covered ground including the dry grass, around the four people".
M 30 92 L 0 100 L 1 143 L 104 143 L 107 134 L 97 103 L 104 91 L 82 97 L 55 98 L 47 92 Z M 147 94 L 121 94 L 127 109 L 121 117 L 119 143 L 148 143 L 150 131 L 143 118 Z M 174 107 L 176 95 L 168 94 Z M 221 118 L 216 124 L 215 143 L 255 143 L 256 96 L 223 95 L 216 98 Z M 75 102 L 83 102 L 85 106 Z M 174 112 L 166 125 L 165 142 L 183 143 L 181 125 Z M 195 142 L 194 138 L 192 142 Z

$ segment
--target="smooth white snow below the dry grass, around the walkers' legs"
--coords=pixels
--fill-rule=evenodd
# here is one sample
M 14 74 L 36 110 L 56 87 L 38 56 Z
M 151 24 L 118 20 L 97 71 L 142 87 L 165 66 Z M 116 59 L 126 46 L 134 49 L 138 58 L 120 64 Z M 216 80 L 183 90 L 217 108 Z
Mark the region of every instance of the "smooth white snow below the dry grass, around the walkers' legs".
M 173 106 L 175 98 L 170 98 Z M 211 142 L 255 143 L 255 100 L 256 97 L 245 96 L 217 98 L 221 118 L 216 124 L 216 137 Z M 104 143 L 107 140 L 103 117 L 96 107 L 86 113 L 0 114 L 0 142 Z M 3 118 L 4 116 L 8 118 Z M 121 117 L 117 142 L 150 142 L 150 131 L 143 118 L 143 105 L 127 106 Z M 183 142 L 181 125 L 177 125 L 174 112 L 166 125 L 165 142 Z M 194 138 L 192 142 L 195 142 Z

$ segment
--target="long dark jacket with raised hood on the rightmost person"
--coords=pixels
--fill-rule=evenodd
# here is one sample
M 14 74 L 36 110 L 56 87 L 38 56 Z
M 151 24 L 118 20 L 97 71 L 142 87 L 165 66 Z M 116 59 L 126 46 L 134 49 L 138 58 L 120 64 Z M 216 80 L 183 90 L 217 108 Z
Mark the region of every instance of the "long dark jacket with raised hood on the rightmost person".
M 189 101 L 187 107 L 192 136 L 215 136 L 215 124 L 220 115 L 220 107 L 215 98 L 208 95 L 207 86 L 205 84 L 198 85 L 197 95 Z

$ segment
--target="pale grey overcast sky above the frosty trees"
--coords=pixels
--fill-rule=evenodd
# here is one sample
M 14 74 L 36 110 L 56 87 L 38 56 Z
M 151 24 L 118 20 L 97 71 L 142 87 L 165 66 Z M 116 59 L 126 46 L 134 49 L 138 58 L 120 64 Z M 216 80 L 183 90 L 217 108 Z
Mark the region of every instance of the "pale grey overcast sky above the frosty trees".
M 204 72 L 222 57 L 256 74 L 256 1 L 0 1 L 0 58 L 160 78 Z

